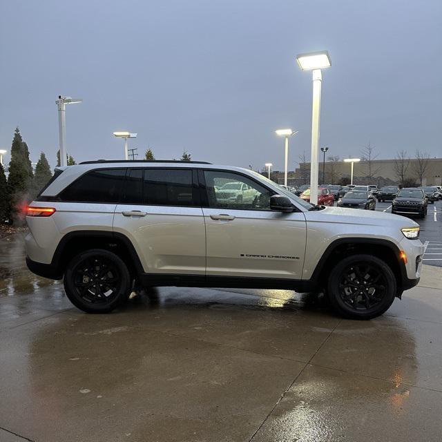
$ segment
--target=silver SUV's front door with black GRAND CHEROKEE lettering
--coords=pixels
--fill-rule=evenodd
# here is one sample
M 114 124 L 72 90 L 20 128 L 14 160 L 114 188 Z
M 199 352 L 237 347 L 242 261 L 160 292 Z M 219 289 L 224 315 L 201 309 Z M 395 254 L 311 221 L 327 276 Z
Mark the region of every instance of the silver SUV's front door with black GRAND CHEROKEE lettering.
M 275 192 L 232 171 L 201 170 L 206 223 L 206 275 L 301 279 L 306 222 L 301 211 L 271 211 Z M 217 198 L 222 182 L 242 182 L 253 198 Z

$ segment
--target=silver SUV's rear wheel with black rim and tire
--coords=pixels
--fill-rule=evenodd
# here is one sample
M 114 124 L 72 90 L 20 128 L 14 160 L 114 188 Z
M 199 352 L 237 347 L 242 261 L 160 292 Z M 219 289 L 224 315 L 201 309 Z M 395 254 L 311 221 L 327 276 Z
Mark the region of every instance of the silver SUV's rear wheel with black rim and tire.
M 64 272 L 66 296 L 87 313 L 112 311 L 128 299 L 131 284 L 126 264 L 115 253 L 103 249 L 79 253 Z

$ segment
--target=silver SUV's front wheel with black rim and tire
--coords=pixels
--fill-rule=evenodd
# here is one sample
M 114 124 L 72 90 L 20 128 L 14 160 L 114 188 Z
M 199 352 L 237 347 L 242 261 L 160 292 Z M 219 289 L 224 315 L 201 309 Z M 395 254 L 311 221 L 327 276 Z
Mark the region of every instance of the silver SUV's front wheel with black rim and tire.
M 378 291 L 379 296 L 374 296 Z M 390 308 L 396 296 L 396 278 L 383 260 L 372 255 L 352 255 L 334 267 L 327 295 L 345 318 L 372 319 Z

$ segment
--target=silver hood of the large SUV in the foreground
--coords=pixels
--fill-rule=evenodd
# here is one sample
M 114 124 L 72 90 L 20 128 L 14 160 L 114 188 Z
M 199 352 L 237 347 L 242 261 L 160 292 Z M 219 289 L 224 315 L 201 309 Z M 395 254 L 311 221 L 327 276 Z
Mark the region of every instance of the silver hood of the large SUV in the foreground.
M 325 207 L 319 211 L 307 211 L 305 219 L 318 222 L 337 222 L 340 224 L 365 224 L 392 227 L 392 223 L 401 227 L 418 227 L 419 224 L 401 215 L 392 213 L 368 211 L 362 209 L 345 209 L 345 207 Z

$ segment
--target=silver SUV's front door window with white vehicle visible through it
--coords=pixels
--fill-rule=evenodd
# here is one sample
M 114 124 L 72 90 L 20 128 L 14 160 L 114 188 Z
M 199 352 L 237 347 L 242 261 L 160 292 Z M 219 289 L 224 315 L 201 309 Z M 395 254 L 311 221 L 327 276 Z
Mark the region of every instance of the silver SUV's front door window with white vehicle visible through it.
M 270 210 L 272 193 L 248 177 L 224 171 L 204 171 L 204 179 L 209 207 Z

